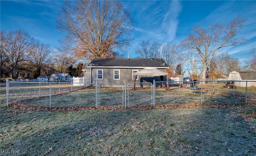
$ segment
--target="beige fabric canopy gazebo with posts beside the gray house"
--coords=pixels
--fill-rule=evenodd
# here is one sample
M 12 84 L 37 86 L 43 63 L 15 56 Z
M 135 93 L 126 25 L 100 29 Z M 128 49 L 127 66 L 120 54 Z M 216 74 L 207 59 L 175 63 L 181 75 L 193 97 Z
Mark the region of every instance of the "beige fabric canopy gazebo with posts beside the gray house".
M 163 81 L 163 76 L 165 76 L 166 81 L 168 80 L 168 73 L 164 71 L 160 71 L 156 68 L 144 68 L 141 71 L 134 73 L 133 82 L 136 81 L 136 76 L 160 76 L 161 81 Z M 163 83 L 162 83 L 162 87 L 164 87 Z M 135 90 L 135 83 L 133 84 L 132 90 Z M 166 85 L 166 90 L 169 90 L 169 85 Z

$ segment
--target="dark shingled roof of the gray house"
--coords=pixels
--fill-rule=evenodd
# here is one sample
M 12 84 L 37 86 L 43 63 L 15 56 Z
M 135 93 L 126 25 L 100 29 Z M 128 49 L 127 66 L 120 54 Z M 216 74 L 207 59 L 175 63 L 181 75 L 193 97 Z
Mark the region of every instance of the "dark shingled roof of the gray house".
M 163 59 L 94 58 L 88 67 L 156 67 L 168 68 Z

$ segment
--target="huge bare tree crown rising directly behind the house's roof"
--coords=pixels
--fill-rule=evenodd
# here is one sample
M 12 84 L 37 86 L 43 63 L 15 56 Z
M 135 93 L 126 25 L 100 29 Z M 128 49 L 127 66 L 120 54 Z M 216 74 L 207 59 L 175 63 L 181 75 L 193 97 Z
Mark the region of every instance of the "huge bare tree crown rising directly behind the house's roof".
M 69 3 L 70 2 L 70 3 Z M 132 42 L 132 17 L 122 3 L 107 0 L 66 1 L 57 19 L 57 28 L 66 33 L 77 56 L 116 57 Z

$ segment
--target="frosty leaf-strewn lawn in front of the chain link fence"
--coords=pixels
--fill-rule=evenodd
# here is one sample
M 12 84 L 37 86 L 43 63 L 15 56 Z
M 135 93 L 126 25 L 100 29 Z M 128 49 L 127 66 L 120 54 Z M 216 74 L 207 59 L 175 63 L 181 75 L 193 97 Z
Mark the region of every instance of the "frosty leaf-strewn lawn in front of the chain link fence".
M 84 111 L 0 107 L 1 155 L 256 155 L 255 105 Z

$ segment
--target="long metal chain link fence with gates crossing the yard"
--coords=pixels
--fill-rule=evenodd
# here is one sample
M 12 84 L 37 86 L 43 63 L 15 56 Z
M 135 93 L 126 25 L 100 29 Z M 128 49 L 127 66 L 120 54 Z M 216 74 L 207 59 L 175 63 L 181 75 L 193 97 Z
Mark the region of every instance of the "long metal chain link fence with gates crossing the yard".
M 72 82 L 7 81 L 6 93 L 7 106 L 126 108 L 148 105 L 255 104 L 256 81 L 154 81 L 153 84 L 96 82 L 80 85 Z

